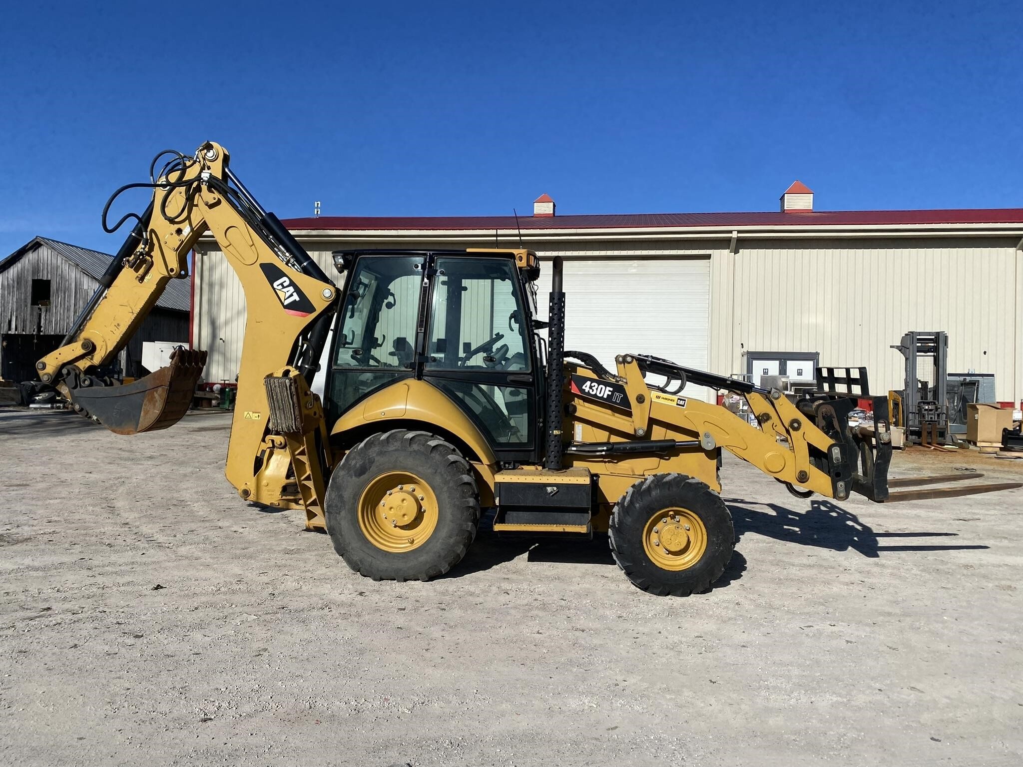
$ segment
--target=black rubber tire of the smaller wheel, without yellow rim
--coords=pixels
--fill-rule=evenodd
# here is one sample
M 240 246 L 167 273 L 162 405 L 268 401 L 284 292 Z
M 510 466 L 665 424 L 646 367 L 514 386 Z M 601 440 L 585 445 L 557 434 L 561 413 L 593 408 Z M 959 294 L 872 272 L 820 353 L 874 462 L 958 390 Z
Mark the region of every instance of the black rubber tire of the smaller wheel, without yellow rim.
M 650 538 L 651 526 L 658 524 L 661 514 L 670 518 L 669 509 L 682 510 L 680 522 L 684 517 L 694 527 L 703 527 L 702 553 L 695 550 L 692 562 L 685 561 L 679 546 L 678 562 L 685 565 L 680 570 L 658 565 L 648 553 L 653 544 L 644 545 L 644 537 L 656 540 Z M 618 567 L 635 586 L 659 596 L 688 596 L 709 589 L 724 572 L 736 541 L 731 514 L 721 497 L 706 483 L 680 473 L 652 475 L 629 488 L 615 504 L 608 532 Z M 666 554 L 662 561 L 670 558 Z

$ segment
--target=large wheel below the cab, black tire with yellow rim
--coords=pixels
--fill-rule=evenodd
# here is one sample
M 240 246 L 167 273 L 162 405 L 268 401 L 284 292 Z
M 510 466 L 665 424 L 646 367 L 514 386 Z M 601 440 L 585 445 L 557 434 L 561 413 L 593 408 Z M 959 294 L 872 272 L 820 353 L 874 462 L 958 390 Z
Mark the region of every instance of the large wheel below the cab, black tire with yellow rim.
M 335 550 L 374 581 L 428 581 L 465 555 L 480 522 L 469 462 L 427 432 L 395 430 L 353 447 L 330 477 Z

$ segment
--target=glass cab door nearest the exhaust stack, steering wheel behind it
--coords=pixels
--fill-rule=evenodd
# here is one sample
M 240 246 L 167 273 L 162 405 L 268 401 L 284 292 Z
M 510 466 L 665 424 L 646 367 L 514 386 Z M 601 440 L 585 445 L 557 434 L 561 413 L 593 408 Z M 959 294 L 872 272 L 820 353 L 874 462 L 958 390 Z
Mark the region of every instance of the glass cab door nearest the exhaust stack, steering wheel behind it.
M 513 257 L 441 256 L 422 377 L 487 437 L 499 460 L 535 460 L 537 369 Z

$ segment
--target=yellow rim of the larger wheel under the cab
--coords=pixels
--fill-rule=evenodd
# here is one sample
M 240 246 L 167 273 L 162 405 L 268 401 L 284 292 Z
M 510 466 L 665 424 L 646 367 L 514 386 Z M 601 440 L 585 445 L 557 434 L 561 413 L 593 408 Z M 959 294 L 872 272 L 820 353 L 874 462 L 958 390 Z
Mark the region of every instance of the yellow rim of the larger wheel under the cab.
M 359 528 L 382 551 L 418 548 L 437 529 L 437 496 L 408 471 L 388 471 L 370 482 L 359 498 Z

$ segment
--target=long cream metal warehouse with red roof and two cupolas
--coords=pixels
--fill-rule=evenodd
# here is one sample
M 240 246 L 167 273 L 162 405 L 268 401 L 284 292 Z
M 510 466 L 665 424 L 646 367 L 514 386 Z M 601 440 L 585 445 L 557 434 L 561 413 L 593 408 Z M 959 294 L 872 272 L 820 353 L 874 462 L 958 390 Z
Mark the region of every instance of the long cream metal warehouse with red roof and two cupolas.
M 946 330 L 950 372 L 993 373 L 997 400 L 1023 399 L 1023 209 L 814 212 L 796 182 L 777 213 L 559 216 L 543 195 L 518 222 L 284 223 L 330 275 L 336 250 L 510 247 L 521 230 L 541 259 L 565 259 L 566 347 L 606 363 L 639 352 L 793 380 L 812 378 L 814 364 L 865 365 L 883 392 L 902 387 L 903 358 L 889 347 L 903 332 Z M 210 353 L 207 380 L 233 380 L 244 299 L 216 247 L 196 249 L 192 343 Z

